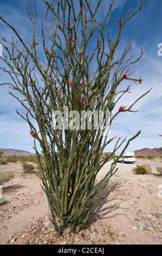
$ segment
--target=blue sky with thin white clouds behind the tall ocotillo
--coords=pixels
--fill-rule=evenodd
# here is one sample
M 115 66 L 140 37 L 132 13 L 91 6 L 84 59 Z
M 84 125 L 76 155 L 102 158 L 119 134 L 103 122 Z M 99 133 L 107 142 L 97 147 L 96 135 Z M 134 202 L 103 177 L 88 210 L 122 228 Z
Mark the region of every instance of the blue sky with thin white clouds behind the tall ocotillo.
M 77 1 L 75 1 L 77 2 Z M 97 0 L 92 0 L 95 6 Z M 103 0 L 98 13 L 100 20 L 106 10 L 109 8 L 111 0 Z M 118 28 L 118 22 L 114 19 L 119 19 L 119 16 L 125 17 L 128 11 L 132 12 L 137 10 L 141 0 L 116 0 L 111 13 L 111 33 L 115 34 Z M 30 45 L 31 23 L 27 15 L 27 5 L 30 5 L 30 10 L 35 13 L 34 4 L 36 4 L 38 19 L 37 24 L 43 20 L 43 15 L 46 11 L 42 0 L 0 0 L 0 13 L 12 26 L 14 26 L 18 33 L 28 45 Z M 142 10 L 129 20 L 122 31 L 122 40 L 119 47 L 119 54 L 122 48 L 125 47 L 127 41 L 132 40 L 132 54 L 139 57 L 141 54 L 140 48 L 144 55 L 138 63 L 131 67 L 134 71 L 134 77 L 142 77 L 141 84 L 132 83 L 131 94 L 122 98 L 119 105 L 131 105 L 137 97 L 147 92 L 148 89 L 153 87 L 151 92 L 142 98 L 136 105 L 133 106 L 134 110 L 138 112 L 120 113 L 114 120 L 109 133 L 110 137 L 131 138 L 139 130 L 141 134 L 136 138 L 128 147 L 128 151 L 134 151 L 141 148 L 159 148 L 161 147 L 161 137 L 158 134 L 162 133 L 162 56 L 158 56 L 158 44 L 162 43 L 162 2 L 161 0 L 150 1 L 144 3 Z M 108 27 L 108 23 L 105 29 Z M 5 39 L 11 40 L 14 33 L 7 26 L 0 21 L 0 41 L 2 36 Z M 161 51 L 162 52 L 162 51 Z M 4 66 L 2 60 L 0 65 Z M 0 83 L 8 82 L 9 77 L 0 70 Z M 126 81 L 127 82 L 127 81 Z M 129 84 L 129 83 L 128 83 Z M 127 85 L 127 84 L 126 84 Z M 9 86 L 0 87 L 0 148 L 12 148 L 27 150 L 34 153 L 33 138 L 30 137 L 28 123 L 19 117 L 14 111 L 16 108 L 21 109 L 20 104 L 15 100 L 9 92 Z M 119 106 L 116 106 L 118 109 Z M 23 109 L 22 109 L 23 111 Z M 116 141 L 114 140 L 114 143 Z M 105 148 L 106 151 L 112 151 L 114 144 L 109 144 Z

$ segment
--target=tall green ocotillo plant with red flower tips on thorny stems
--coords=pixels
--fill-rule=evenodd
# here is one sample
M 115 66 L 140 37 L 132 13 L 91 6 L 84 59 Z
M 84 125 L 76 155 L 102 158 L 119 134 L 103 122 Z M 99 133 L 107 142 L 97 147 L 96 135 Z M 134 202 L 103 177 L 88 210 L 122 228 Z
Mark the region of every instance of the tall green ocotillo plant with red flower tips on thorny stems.
M 102 0 L 98 1 L 94 10 L 88 0 L 77 0 L 75 4 L 73 0 L 54 0 L 51 3 L 44 1 L 47 12 L 45 24 L 42 22 L 40 29 L 41 41 L 36 40 L 36 7 L 35 17 L 32 17 L 28 5 L 27 13 L 33 25 L 30 47 L 27 47 L 16 28 L 0 17 L 16 36 L 11 42 L 2 38 L 6 53 L 3 53 L 1 59 L 8 69 L 1 67 L 1 70 L 12 78 L 12 83 L 5 83 L 15 90 L 15 93 L 11 90 L 9 94 L 27 111 L 20 113 L 16 109 L 17 114 L 28 122 L 30 135 L 34 138 L 51 222 L 59 234 L 66 227 L 75 231 L 78 225 L 87 223 L 90 211 L 102 199 L 99 196 L 101 190 L 117 170 L 116 163 L 120 156 L 99 182 L 96 182 L 96 175 L 106 162 L 113 159 L 115 151 L 123 143 L 125 146 L 121 155 L 129 142 L 140 134 L 139 131 L 128 141 L 126 138 L 122 141 L 121 138 L 117 139 L 112 154 L 101 159 L 103 150 L 113 140 L 108 138 L 108 132 L 103 134 L 104 127 L 108 124 L 108 131 L 120 112 L 135 112 L 132 110 L 134 104 L 150 91 L 141 95 L 131 106 L 119 106 L 119 110 L 113 113 L 118 101 L 131 89 L 120 89 L 120 84 L 128 80 L 135 84 L 142 82 L 141 77 L 132 77 L 129 69 L 138 62 L 143 52 L 141 51 L 138 59 L 128 57 L 132 50 L 131 42 L 126 44 L 119 60 L 115 60 L 115 51 L 120 43 L 122 28 L 140 11 L 144 2 L 145 0 L 134 13 L 129 11 L 124 19 L 119 17 L 119 20 L 113 20 L 119 25 L 114 40 L 110 35 L 109 14 L 115 0 L 108 3 L 107 14 L 100 22 L 96 20 L 96 14 Z M 103 27 L 104 24 L 108 24 L 108 29 Z M 92 50 L 94 42 L 96 45 Z M 54 125 L 55 111 L 58 112 Z M 81 123 L 81 117 L 85 113 L 83 111 L 90 113 L 91 129 L 86 127 L 88 120 L 85 125 Z M 105 118 L 102 125 L 94 117 L 94 113 L 100 111 L 102 117 L 106 112 L 109 113 L 109 119 Z M 31 123 L 32 119 L 36 121 L 37 129 Z M 63 121 L 62 124 L 60 120 Z M 37 142 L 42 148 L 46 168 L 40 160 Z

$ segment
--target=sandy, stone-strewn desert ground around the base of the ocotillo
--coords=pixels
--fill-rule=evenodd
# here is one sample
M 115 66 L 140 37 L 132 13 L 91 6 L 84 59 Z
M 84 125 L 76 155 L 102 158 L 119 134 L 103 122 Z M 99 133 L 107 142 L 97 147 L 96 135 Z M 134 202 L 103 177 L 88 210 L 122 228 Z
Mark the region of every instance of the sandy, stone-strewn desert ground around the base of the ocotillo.
M 162 243 L 162 176 L 150 161 L 152 174 L 135 174 L 135 164 L 118 163 L 118 171 L 102 191 L 103 199 L 93 209 L 96 220 L 77 234 L 65 231 L 58 236 L 49 221 L 49 206 L 36 173 L 24 174 L 22 164 L 8 163 L 15 178 L 3 185 L 5 203 L 0 205 L 0 244 L 59 245 L 160 245 Z M 100 170 L 99 181 L 111 162 Z

